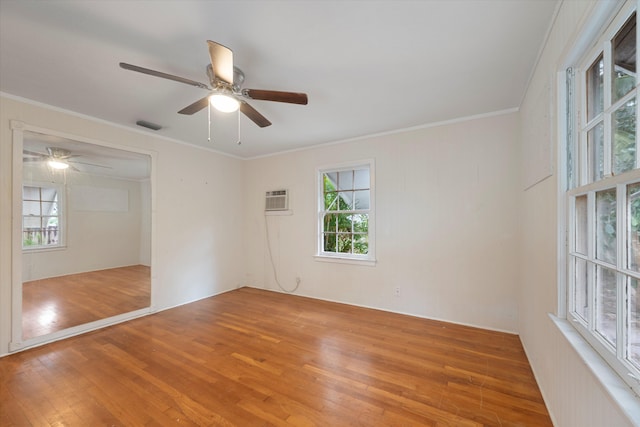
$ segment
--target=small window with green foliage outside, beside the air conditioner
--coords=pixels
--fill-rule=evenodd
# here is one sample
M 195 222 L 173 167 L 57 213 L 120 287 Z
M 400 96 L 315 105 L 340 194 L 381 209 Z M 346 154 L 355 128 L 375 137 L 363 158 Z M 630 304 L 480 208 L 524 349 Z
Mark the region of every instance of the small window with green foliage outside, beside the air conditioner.
M 318 171 L 318 255 L 372 261 L 373 162 Z

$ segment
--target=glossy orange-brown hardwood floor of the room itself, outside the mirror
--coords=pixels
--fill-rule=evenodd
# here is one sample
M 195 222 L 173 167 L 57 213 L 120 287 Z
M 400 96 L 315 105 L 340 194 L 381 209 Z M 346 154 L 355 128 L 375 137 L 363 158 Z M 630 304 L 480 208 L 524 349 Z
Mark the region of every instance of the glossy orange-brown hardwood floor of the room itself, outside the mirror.
M 241 288 L 0 359 L 2 426 L 550 426 L 515 335 Z

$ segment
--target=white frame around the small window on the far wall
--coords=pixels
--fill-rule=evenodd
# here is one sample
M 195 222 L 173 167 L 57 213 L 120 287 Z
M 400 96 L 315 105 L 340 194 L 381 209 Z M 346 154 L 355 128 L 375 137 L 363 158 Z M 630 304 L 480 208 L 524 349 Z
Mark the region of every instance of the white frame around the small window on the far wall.
M 324 229 L 324 182 L 323 176 L 329 172 L 344 172 L 355 169 L 367 168 L 369 170 L 369 209 L 358 210 L 359 213 L 366 213 L 369 216 L 368 229 L 368 253 L 348 254 L 325 252 L 323 250 L 323 229 Z M 317 198 L 317 219 L 316 219 L 316 255 L 317 261 L 329 261 L 349 264 L 362 264 L 373 266 L 376 263 L 375 244 L 375 162 L 367 159 L 356 162 L 340 163 L 319 167 L 316 169 L 316 198 Z

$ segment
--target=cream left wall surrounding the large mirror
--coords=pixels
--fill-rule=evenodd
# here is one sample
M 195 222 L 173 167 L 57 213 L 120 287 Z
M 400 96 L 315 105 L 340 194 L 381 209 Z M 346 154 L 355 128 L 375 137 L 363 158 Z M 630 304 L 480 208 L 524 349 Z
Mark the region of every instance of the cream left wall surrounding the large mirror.
M 165 309 L 237 287 L 243 278 L 243 163 L 213 151 L 0 97 L 0 356 L 11 339 L 12 132 L 9 120 L 151 150 L 153 303 Z M 214 197 L 215 195 L 215 197 Z

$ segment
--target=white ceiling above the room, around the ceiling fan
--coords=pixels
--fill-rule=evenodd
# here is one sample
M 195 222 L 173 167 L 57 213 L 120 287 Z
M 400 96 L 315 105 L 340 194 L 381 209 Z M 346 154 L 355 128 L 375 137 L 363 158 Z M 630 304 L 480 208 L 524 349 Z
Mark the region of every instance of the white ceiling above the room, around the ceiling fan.
M 239 157 L 520 105 L 556 0 L 0 0 L 0 91 Z M 206 95 L 119 62 L 208 83 L 206 40 L 244 87 L 306 92 L 250 104 L 273 124 L 177 111 Z M 150 147 L 152 148 L 152 147 Z

